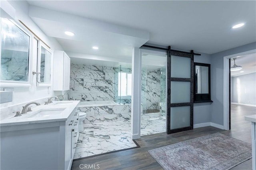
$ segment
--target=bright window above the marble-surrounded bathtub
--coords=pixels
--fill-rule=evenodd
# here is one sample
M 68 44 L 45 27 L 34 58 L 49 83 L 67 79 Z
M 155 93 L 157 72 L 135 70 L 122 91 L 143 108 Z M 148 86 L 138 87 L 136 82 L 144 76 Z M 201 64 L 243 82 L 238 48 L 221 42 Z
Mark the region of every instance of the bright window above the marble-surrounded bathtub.
M 118 72 L 118 96 L 132 96 L 132 73 Z

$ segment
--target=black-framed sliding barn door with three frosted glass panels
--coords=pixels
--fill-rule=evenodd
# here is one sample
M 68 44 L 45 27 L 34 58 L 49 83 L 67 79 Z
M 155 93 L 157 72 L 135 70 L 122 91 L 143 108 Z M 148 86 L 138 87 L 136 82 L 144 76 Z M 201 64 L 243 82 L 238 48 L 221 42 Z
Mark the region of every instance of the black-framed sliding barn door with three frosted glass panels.
M 194 54 L 168 52 L 168 134 L 193 129 Z

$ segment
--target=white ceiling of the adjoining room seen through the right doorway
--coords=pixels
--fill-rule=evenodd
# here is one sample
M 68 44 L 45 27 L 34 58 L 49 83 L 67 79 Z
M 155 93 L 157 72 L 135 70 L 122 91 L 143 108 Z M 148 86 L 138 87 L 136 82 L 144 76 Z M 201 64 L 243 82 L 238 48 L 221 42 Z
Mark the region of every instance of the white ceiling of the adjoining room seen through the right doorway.
M 242 70 L 232 71 L 232 77 L 256 72 L 256 53 L 241 55 L 233 58 L 236 58 L 236 65 L 242 66 Z M 233 65 L 234 61 L 231 60 L 231 66 Z

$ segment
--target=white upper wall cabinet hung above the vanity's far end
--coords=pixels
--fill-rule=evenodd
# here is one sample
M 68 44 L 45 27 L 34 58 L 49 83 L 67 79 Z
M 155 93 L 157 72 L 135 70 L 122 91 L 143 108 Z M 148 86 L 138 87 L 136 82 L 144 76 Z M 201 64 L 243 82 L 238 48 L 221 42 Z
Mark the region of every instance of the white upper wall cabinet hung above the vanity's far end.
M 53 90 L 69 90 L 70 58 L 64 51 L 54 51 L 54 80 Z

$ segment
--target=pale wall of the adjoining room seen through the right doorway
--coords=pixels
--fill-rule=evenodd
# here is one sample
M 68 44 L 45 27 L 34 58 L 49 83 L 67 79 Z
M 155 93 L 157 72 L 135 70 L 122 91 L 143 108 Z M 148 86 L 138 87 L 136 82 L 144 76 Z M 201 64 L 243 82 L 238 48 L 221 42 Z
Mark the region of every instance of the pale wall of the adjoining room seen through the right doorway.
M 231 78 L 231 102 L 256 105 L 256 72 Z

